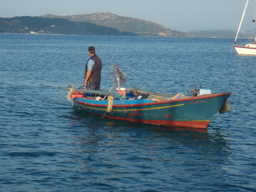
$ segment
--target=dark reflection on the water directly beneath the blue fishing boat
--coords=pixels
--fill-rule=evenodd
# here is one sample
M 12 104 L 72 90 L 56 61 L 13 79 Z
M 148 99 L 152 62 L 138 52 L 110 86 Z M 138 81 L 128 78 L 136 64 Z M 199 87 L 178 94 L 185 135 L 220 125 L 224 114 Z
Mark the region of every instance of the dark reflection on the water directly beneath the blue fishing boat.
M 81 148 L 86 153 L 99 152 L 106 146 L 141 147 L 139 143 L 147 147 L 147 150 L 151 150 L 153 147 L 157 147 L 159 150 L 161 148 L 189 147 L 191 151 L 204 152 L 202 156 L 207 156 L 207 153 L 214 150 L 217 154 L 222 152 L 228 154 L 229 151 L 225 136 L 221 131 L 214 129 L 209 132 L 207 129 L 136 124 L 99 118 L 99 116 L 91 116 L 77 111 L 73 115 L 70 125 L 79 127 L 76 129 L 79 132 L 77 141 L 81 143 Z

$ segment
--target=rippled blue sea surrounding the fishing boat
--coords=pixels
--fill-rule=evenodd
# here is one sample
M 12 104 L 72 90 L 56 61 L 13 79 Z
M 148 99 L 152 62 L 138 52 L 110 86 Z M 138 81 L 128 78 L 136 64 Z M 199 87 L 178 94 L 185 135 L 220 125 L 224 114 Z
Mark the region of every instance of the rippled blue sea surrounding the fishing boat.
M 0 191 L 256 191 L 256 57 L 232 39 L 0 34 Z M 206 131 L 86 115 L 58 86 L 83 84 L 87 47 L 127 88 L 232 92 Z

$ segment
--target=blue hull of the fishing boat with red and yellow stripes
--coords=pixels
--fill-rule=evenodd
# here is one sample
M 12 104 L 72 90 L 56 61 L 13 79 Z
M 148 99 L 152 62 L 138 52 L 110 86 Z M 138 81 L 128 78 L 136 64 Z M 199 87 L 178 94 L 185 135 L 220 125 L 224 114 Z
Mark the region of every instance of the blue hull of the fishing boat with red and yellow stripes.
M 92 115 L 143 124 L 206 128 L 231 93 L 219 93 L 176 100 L 153 101 L 113 100 L 111 113 L 107 112 L 108 100 L 74 98 L 79 106 Z

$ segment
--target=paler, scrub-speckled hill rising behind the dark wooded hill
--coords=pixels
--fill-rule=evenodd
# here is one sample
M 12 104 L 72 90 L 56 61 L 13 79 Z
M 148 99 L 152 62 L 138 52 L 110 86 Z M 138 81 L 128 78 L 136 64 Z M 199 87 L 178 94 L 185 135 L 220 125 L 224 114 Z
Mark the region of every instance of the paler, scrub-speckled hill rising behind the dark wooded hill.
M 155 22 L 147 20 L 136 19 L 132 17 L 122 17 L 112 13 L 92 13 L 88 15 L 43 15 L 44 18 L 61 18 L 68 19 L 74 22 L 90 22 L 99 26 L 118 29 L 119 31 L 126 31 L 136 35 L 143 36 L 189 36 L 182 31 L 176 31 Z

